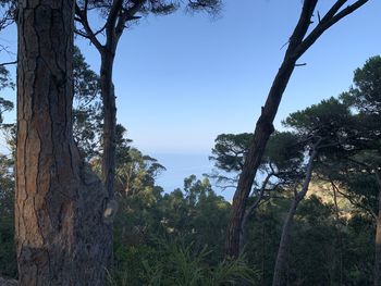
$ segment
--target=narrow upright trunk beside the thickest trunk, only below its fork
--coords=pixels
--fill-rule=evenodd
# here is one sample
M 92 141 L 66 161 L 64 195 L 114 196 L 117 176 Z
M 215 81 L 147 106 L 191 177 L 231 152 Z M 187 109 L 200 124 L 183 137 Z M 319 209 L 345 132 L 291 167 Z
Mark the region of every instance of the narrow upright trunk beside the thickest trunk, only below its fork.
M 114 52 L 105 49 L 101 53 L 100 66 L 100 86 L 105 112 L 102 182 L 110 198 L 113 198 L 114 195 L 116 133 L 116 104 L 112 84 L 113 62 Z

